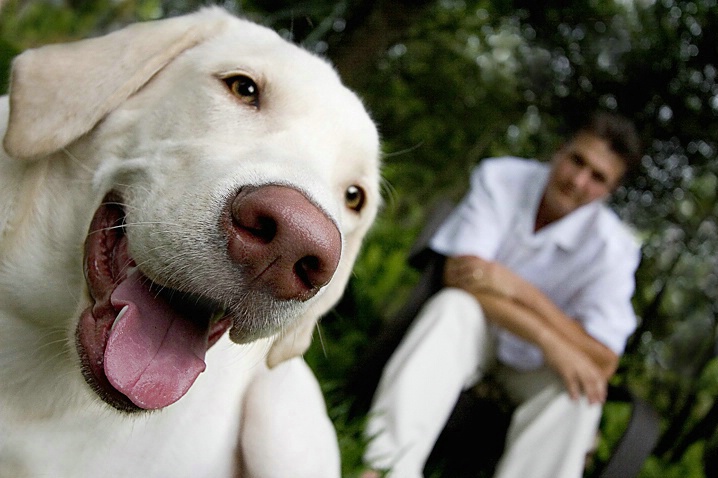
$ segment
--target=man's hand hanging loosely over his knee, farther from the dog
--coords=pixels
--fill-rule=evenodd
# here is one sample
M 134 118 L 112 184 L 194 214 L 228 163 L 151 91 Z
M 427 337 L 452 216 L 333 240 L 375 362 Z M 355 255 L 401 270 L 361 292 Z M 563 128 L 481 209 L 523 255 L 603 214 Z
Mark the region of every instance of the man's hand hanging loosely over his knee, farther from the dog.
M 572 399 L 585 395 L 589 403 L 605 403 L 608 382 L 585 353 L 552 332 L 545 334 L 540 345 L 546 363 L 561 376 Z

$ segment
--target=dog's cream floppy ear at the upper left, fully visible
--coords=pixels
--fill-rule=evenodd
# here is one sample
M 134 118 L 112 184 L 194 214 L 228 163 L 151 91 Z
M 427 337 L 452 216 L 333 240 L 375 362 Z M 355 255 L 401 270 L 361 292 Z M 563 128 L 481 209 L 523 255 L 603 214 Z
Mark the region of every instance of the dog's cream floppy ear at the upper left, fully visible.
M 67 146 L 228 18 L 224 10 L 207 8 L 22 53 L 12 65 L 5 150 L 33 158 Z

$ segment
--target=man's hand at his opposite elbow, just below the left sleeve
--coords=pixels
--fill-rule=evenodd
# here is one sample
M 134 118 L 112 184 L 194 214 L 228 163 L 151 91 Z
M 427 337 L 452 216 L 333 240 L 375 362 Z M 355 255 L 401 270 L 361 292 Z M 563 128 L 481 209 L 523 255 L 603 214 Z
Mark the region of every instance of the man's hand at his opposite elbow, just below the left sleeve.
M 513 298 L 522 281 L 501 264 L 476 256 L 449 257 L 444 266 L 444 284 L 470 293 L 491 292 Z

